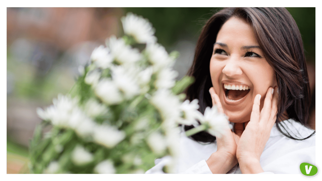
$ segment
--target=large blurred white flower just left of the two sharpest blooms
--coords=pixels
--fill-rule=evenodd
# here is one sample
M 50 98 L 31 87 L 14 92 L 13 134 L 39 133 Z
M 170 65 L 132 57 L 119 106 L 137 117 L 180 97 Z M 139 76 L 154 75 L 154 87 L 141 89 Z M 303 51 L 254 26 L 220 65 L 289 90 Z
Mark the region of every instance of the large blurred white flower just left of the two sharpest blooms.
M 151 103 L 160 111 L 162 117 L 170 120 L 180 119 L 180 101 L 170 90 L 159 89 L 150 99 Z

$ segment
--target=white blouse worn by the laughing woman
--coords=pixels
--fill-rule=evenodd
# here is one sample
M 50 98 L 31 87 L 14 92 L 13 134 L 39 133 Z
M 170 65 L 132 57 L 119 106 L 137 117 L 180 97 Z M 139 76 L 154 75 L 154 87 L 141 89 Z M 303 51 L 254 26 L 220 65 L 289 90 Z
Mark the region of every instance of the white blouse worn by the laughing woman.
M 288 128 L 288 132 L 292 133 L 293 137 L 305 138 L 313 132 L 292 119 L 285 120 L 281 124 Z M 281 126 L 280 128 L 282 129 Z M 205 160 L 216 150 L 216 142 L 200 143 L 186 137 L 182 131 L 176 173 L 212 174 Z M 147 170 L 146 174 L 164 174 L 162 168 L 170 159 L 169 156 L 156 159 L 156 165 Z M 299 166 L 303 162 L 315 165 L 315 134 L 306 140 L 293 140 L 279 132 L 274 124 L 270 131 L 270 138 L 260 156 L 260 165 L 264 170 L 261 174 L 301 174 Z M 227 174 L 241 173 L 237 164 Z

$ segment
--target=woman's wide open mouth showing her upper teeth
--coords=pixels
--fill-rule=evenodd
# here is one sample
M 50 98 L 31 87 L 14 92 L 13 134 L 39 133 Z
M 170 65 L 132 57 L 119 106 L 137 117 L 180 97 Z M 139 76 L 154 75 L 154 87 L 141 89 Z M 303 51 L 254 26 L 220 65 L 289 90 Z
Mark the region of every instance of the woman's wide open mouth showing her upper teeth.
M 223 84 L 226 98 L 230 101 L 238 101 L 245 97 L 251 90 L 246 85 Z

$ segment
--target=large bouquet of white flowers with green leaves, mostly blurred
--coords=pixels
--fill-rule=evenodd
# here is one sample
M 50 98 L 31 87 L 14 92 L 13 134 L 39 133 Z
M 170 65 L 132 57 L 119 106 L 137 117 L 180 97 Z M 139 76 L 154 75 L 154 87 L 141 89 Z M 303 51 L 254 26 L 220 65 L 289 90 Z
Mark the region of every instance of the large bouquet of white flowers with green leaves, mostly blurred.
M 122 24 L 124 37 L 112 36 L 92 52 L 68 95 L 37 109 L 43 122 L 31 141 L 32 173 L 144 173 L 166 155 L 171 173 L 179 124 L 196 125 L 190 135 L 220 135 L 223 114 L 214 107 L 203 115 L 197 100 L 183 102 L 180 93 L 193 79 L 175 81 L 178 53 L 156 43 L 146 19 L 129 13 Z

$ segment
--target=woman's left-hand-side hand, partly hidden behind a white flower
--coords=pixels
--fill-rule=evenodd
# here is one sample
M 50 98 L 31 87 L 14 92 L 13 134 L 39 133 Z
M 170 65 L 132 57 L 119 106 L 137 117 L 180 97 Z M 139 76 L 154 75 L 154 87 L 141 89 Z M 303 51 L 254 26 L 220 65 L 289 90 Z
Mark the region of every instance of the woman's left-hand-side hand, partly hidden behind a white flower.
M 223 106 L 213 87 L 209 89 L 209 93 L 211 95 L 213 105 L 216 105 L 218 111 L 223 113 Z M 214 152 L 206 161 L 213 174 L 226 174 L 238 163 L 236 158 L 238 140 L 239 136 L 229 129 L 227 122 L 225 134 L 221 138 L 216 138 L 217 151 Z

